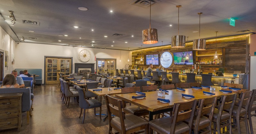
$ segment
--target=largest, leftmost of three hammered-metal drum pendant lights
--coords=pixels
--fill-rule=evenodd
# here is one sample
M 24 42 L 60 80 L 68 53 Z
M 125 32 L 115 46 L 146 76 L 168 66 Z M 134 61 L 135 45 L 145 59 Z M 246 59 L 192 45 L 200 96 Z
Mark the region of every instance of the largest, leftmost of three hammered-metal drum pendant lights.
M 143 44 L 155 44 L 158 42 L 157 29 L 151 28 L 151 0 L 150 0 L 150 18 L 149 29 L 142 30 L 142 43 Z

